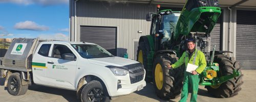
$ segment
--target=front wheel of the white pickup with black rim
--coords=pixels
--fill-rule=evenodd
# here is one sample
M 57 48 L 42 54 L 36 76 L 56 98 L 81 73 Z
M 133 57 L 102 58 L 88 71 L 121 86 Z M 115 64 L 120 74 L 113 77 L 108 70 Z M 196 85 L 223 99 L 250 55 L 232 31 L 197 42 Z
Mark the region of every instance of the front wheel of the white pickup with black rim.
M 81 93 L 81 101 L 110 101 L 108 91 L 103 89 L 102 84 L 99 81 L 91 81 L 83 87 Z

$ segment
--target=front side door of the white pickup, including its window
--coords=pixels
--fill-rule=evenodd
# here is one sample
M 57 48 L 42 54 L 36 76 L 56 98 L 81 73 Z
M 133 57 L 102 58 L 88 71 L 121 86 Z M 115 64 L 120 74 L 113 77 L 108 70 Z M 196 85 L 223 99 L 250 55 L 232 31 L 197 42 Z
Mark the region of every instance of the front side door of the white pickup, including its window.
M 62 59 L 63 54 L 75 53 L 66 44 L 54 44 L 51 57 L 47 58 L 46 77 L 52 86 L 75 89 L 75 72 L 77 61 Z

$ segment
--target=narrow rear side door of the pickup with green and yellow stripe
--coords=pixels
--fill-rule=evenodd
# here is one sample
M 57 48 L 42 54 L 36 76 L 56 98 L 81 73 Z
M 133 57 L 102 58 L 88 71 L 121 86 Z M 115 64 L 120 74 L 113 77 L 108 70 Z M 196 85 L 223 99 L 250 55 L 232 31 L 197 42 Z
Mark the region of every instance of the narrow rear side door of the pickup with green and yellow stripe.
M 39 45 L 40 48 L 33 56 L 32 60 L 32 72 L 33 72 L 33 81 L 36 84 L 45 84 L 47 83 L 46 79 L 46 59 L 49 57 L 49 50 L 51 44 L 42 44 Z

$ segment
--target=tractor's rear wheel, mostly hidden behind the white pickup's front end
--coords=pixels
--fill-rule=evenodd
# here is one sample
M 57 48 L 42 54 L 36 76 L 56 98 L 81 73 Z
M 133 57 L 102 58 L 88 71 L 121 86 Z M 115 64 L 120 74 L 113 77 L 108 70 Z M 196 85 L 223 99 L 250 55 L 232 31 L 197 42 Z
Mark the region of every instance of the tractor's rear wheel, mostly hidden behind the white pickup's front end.
M 148 55 L 148 52 L 147 52 L 145 47 L 146 46 L 145 46 L 144 42 L 139 43 L 138 50 L 137 50 L 137 61 L 140 62 L 141 64 L 143 64 L 144 69 L 146 70 L 145 81 L 146 82 L 152 82 L 152 79 L 147 78 L 147 74 L 148 74 L 148 71 L 147 71 L 147 55 Z

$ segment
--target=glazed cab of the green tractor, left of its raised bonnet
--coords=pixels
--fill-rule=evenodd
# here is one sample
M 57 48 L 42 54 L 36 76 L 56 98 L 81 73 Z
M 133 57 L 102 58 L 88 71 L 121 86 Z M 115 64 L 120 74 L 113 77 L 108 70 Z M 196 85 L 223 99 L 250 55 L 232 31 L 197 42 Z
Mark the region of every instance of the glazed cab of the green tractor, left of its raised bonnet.
M 157 13 L 147 14 L 147 21 L 152 21 L 151 35 L 155 37 L 155 50 L 167 48 L 176 29 L 181 12 L 172 10 L 161 10 Z

